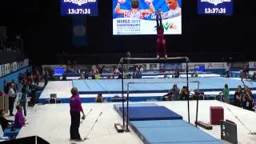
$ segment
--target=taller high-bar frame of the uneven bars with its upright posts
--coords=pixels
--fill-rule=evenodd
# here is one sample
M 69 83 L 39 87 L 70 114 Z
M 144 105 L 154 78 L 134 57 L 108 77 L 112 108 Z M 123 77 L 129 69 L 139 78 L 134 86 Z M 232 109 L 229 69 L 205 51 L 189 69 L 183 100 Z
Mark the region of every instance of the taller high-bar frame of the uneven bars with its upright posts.
M 159 60 L 178 60 L 178 59 L 185 59 L 186 60 L 186 86 L 187 86 L 187 90 L 189 90 L 189 66 L 188 66 L 188 62 L 190 61 L 190 59 L 188 57 L 174 57 L 174 58 L 120 58 L 120 62 L 121 63 L 121 77 L 122 77 L 122 126 L 124 128 L 125 126 L 125 105 L 124 105 L 124 92 L 123 92 L 123 61 L 127 61 L 127 60 L 135 60 L 135 61 L 159 61 Z M 188 91 L 189 92 L 189 91 Z M 128 101 L 128 99 L 127 99 Z M 187 107 L 188 107 L 188 121 L 190 123 L 190 98 L 187 98 Z M 127 110 L 129 109 L 128 104 L 127 104 Z M 128 129 L 126 129 L 128 131 Z

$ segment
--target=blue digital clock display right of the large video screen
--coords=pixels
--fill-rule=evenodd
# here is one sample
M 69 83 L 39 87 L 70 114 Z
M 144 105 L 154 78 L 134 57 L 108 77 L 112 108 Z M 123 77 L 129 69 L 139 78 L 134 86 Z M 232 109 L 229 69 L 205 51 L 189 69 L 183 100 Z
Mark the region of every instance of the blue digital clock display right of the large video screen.
M 233 14 L 233 0 L 198 0 L 198 14 Z

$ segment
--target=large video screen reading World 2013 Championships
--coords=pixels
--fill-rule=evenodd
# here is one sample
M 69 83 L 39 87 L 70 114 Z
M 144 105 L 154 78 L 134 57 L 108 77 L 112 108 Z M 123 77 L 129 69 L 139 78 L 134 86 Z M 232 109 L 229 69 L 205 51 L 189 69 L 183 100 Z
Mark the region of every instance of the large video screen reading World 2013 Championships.
M 113 34 L 156 34 L 159 12 L 164 34 L 182 34 L 182 0 L 113 0 Z

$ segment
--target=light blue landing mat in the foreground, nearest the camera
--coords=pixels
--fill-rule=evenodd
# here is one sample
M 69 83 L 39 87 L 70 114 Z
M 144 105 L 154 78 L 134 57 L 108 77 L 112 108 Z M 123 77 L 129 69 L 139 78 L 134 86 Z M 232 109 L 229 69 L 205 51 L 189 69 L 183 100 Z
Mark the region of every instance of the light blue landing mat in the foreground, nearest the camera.
M 182 120 L 130 122 L 138 137 L 146 144 L 221 144 L 218 139 Z

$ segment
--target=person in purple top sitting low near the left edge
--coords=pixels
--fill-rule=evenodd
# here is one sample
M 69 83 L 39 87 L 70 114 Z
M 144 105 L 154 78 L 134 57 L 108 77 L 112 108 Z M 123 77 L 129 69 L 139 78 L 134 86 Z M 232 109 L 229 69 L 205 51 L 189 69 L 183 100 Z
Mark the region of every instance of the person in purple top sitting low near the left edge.
M 26 126 L 27 123 L 25 123 L 26 119 L 24 118 L 23 113 L 22 113 L 22 106 L 17 105 L 16 109 L 17 109 L 17 113 L 15 114 L 14 128 L 20 129 L 20 128 L 22 128 L 22 126 Z

